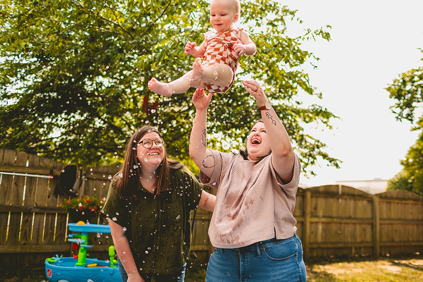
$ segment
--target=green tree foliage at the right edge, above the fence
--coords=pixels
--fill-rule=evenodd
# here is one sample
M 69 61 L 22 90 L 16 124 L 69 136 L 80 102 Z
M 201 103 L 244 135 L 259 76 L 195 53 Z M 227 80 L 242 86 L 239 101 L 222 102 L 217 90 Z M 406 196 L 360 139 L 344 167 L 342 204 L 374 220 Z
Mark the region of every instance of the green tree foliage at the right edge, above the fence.
M 423 52 L 423 50 L 422 50 Z M 422 59 L 423 60 L 423 59 Z M 397 120 L 408 120 L 415 124 L 412 131 L 422 131 L 423 115 L 423 67 L 412 69 L 394 79 L 386 90 L 389 97 L 397 100 L 391 107 Z M 404 169 L 390 180 L 390 189 L 402 189 L 419 194 L 423 193 L 423 131 L 419 134 L 405 159 L 401 161 Z

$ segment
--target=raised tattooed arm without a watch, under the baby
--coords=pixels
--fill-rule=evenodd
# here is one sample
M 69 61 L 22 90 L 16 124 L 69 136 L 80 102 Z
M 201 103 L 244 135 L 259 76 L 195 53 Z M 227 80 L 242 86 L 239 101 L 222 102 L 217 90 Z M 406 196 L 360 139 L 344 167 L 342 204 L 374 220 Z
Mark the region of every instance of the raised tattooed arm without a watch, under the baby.
M 190 157 L 208 177 L 211 177 L 214 170 L 213 153 L 207 149 L 207 109 L 212 95 L 206 95 L 204 89 L 195 90 L 192 103 L 196 112 L 190 136 Z

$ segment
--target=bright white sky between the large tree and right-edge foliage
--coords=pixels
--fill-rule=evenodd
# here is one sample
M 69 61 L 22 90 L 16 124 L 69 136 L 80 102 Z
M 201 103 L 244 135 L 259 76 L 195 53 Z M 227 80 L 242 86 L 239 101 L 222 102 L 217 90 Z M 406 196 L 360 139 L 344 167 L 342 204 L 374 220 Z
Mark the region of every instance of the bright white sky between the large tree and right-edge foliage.
M 343 160 L 341 169 L 321 162 L 318 176 L 300 183 L 309 186 L 335 181 L 390 179 L 402 166 L 418 132 L 390 112 L 394 100 L 383 88 L 399 73 L 423 65 L 423 1 L 280 0 L 298 10 L 301 29 L 331 25 L 332 41 L 303 44 L 320 61 L 317 70 L 305 68 L 311 84 L 323 91 L 323 100 L 304 98 L 305 104 L 327 107 L 342 120 L 332 131 L 308 129 L 328 145 L 330 156 Z M 289 25 L 292 36 L 298 25 Z M 309 126 L 310 127 L 310 126 Z

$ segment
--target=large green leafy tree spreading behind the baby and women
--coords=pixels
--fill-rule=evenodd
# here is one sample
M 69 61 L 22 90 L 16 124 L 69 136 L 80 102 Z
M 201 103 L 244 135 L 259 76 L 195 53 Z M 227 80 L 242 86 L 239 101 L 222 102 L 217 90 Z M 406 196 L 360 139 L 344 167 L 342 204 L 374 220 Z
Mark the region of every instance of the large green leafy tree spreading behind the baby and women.
M 189 162 L 193 90 L 170 98 L 147 88 L 152 77 L 176 79 L 191 69 L 186 41 L 201 42 L 210 29 L 203 0 L 46 0 L 0 3 L 0 146 L 80 165 L 121 162 L 133 130 L 151 123 L 165 133 L 176 159 Z M 323 159 L 338 167 L 326 145 L 305 134 L 305 123 L 332 129 L 335 116 L 319 105 L 301 107 L 310 85 L 305 63 L 318 57 L 301 43 L 324 29 L 286 36 L 296 11 L 272 0 L 242 1 L 242 18 L 258 47 L 242 56 L 228 93 L 214 95 L 209 133 L 213 148 L 237 148 L 260 117 L 241 80 L 261 81 L 300 152 L 305 173 Z M 248 20 L 247 20 L 248 19 Z M 330 26 L 327 26 L 330 28 Z

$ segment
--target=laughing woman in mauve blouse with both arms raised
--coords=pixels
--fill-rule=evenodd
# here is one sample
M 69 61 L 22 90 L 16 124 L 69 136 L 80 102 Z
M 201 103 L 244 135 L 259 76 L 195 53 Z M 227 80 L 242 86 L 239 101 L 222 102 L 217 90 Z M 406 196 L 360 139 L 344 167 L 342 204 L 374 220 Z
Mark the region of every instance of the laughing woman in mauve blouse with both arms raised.
M 197 89 L 190 156 L 200 180 L 217 189 L 209 226 L 211 254 L 207 282 L 305 282 L 301 241 L 292 215 L 300 162 L 288 132 L 257 82 L 243 82 L 262 120 L 239 154 L 207 149 L 211 94 Z M 230 274 L 230 275 L 229 275 Z

